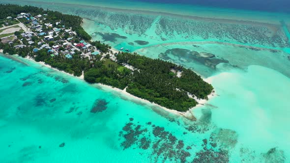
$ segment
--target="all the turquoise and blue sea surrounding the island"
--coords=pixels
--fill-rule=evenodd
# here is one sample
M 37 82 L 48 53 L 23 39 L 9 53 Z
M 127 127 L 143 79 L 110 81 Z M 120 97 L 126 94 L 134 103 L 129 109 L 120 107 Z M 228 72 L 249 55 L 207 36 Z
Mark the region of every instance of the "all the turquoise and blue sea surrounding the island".
M 8 2 L 82 16 L 93 40 L 190 68 L 217 95 L 193 122 L 0 55 L 1 162 L 290 162 L 288 1 Z

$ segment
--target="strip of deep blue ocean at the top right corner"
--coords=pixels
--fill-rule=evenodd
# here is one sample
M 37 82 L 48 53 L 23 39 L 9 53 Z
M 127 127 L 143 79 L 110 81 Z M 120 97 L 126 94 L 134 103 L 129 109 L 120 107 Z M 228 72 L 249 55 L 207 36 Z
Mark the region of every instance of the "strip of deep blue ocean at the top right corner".
M 290 0 L 132 0 L 290 13 Z

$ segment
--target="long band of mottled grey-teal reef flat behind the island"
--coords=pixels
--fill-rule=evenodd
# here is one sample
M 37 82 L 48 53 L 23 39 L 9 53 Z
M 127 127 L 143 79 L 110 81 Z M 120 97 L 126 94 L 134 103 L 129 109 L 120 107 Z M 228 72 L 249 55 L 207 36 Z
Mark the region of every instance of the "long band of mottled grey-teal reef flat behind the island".
M 38 5 L 44 8 L 49 6 L 51 10 L 61 10 L 61 12 L 65 11 L 69 14 L 85 17 L 95 21 L 99 26 L 105 25 L 104 27 L 111 30 L 122 29 L 128 35 L 154 37 L 159 41 L 176 39 L 222 40 L 281 48 L 289 46 L 288 38 L 281 25 L 168 15 L 166 13 L 111 10 L 86 5 L 80 7 L 79 4 L 55 4 L 57 5 L 41 2 Z M 149 32 L 151 27 L 154 27 L 154 32 Z

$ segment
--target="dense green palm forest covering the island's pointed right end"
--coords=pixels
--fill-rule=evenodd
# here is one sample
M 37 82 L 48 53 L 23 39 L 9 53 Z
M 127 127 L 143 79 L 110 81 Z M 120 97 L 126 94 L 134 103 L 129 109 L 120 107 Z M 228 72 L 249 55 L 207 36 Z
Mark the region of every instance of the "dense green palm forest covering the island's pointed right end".
M 85 80 L 98 82 L 126 91 L 137 97 L 149 100 L 168 109 L 186 111 L 197 102 L 188 93 L 206 99 L 213 87 L 193 71 L 160 59 L 151 59 L 138 54 L 119 53 L 118 64 L 106 61 L 96 63 L 85 73 Z M 112 61 L 111 61 L 112 62 Z M 126 63 L 136 70 L 125 68 Z M 180 78 L 176 72 L 182 72 Z M 188 92 L 188 93 L 187 93 Z

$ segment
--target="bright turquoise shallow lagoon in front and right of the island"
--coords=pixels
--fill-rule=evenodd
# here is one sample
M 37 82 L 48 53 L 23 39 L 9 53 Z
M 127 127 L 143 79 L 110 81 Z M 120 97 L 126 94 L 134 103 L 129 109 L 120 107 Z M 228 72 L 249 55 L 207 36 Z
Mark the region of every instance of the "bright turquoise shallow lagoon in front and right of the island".
M 289 161 L 290 79 L 277 71 L 250 66 L 210 77 L 218 96 L 191 122 L 17 59 L 27 65 L 0 57 L 3 162 Z

